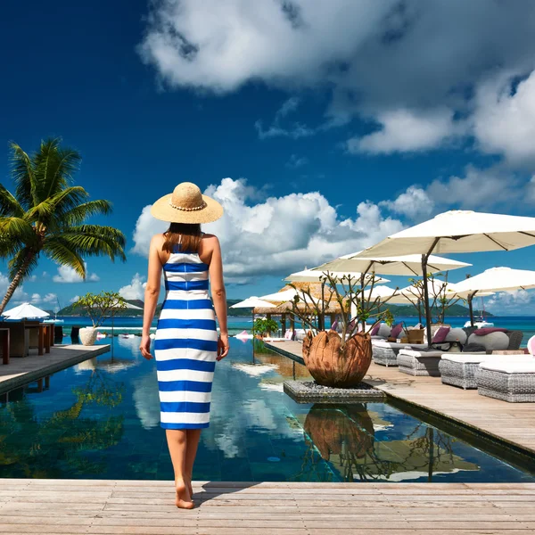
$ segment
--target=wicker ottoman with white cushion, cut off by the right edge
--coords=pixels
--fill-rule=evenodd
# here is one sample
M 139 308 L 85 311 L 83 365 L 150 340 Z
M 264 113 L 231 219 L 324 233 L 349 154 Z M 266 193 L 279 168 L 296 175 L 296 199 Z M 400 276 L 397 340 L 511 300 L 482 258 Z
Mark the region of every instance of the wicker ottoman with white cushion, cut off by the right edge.
M 481 362 L 475 373 L 481 396 L 510 403 L 535 402 L 535 358 L 504 355 Z

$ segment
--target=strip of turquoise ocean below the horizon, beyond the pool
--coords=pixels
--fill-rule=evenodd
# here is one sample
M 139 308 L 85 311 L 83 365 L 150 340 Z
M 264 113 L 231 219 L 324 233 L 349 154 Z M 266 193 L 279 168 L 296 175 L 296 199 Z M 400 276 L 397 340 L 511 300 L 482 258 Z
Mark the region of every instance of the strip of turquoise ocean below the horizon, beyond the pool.
M 87 317 L 58 317 L 63 320 L 63 333 L 70 334 L 70 328 L 74 325 L 79 327 L 86 327 L 91 325 L 91 321 Z M 447 317 L 446 323 L 452 327 L 462 327 L 468 321 L 468 317 Z M 497 327 L 503 327 L 512 331 L 523 332 L 523 346 L 526 342 L 535 335 L 535 317 L 532 316 L 503 316 L 490 317 L 488 321 L 494 323 Z M 328 321 L 328 320 L 327 320 Z M 396 323 L 399 321 L 405 322 L 406 325 L 416 325 L 417 317 L 403 317 L 395 318 Z M 152 322 L 152 332 L 156 330 L 157 319 Z M 59 324 L 60 325 L 60 324 Z M 287 323 L 286 325 L 289 325 Z M 328 325 L 328 323 L 327 323 Z M 252 320 L 251 317 L 228 317 L 228 332 L 232 336 L 242 331 L 251 332 Z M 106 319 L 101 327 L 98 328 L 102 333 L 111 333 L 113 329 L 116 334 L 141 334 L 143 327 L 143 319 L 141 317 L 115 317 L 113 325 L 111 325 L 111 318 Z

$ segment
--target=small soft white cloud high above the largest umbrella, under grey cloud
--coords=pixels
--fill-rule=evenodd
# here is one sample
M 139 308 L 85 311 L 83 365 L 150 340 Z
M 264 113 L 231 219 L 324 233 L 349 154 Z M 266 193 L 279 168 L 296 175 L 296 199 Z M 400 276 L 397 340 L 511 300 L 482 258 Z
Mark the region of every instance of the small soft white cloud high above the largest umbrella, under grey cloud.
M 348 141 L 350 152 L 380 154 L 424 151 L 439 146 L 463 129 L 453 120 L 451 110 L 385 111 L 378 114 L 377 121 L 382 126 L 379 131 Z

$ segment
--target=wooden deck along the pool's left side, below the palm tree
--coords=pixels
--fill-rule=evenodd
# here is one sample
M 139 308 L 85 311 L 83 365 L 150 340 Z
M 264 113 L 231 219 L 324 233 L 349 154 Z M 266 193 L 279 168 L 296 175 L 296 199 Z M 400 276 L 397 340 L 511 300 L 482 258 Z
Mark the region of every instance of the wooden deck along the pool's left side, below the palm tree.
M 87 358 L 102 355 L 109 350 L 109 344 L 91 347 L 65 345 L 53 346 L 50 348 L 50 353 L 45 355 L 37 355 L 37 350 L 32 350 L 29 357 L 12 357 L 9 364 L 0 365 L 0 393 L 78 364 Z

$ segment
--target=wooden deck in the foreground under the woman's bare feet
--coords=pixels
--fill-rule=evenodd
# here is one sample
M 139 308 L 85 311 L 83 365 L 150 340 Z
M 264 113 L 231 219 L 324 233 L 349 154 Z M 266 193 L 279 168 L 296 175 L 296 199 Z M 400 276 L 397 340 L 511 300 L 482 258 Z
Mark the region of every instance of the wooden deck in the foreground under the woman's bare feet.
M 192 511 L 172 481 L 3 480 L 1 533 L 476 535 L 535 530 L 535 483 L 195 482 Z

